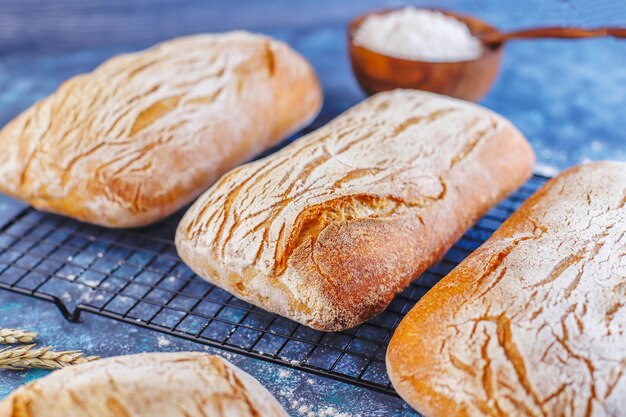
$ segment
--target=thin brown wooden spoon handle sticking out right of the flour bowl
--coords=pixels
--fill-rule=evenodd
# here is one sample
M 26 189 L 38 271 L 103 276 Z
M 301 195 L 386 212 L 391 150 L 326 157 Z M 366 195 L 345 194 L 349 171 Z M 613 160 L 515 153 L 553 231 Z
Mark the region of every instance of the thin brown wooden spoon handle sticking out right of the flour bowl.
M 596 29 L 583 29 L 572 27 L 543 27 L 534 29 L 514 30 L 502 33 L 487 33 L 479 36 L 480 40 L 487 45 L 497 45 L 513 39 L 536 39 L 536 38 L 595 38 L 599 36 L 613 36 L 626 38 L 625 27 L 603 27 Z

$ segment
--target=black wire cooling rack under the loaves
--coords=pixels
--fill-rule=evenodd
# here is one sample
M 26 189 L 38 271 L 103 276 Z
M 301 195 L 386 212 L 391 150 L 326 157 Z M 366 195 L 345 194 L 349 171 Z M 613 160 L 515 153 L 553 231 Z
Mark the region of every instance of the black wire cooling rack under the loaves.
M 178 216 L 143 229 L 105 229 L 27 208 L 0 229 L 0 288 L 395 394 L 385 371 L 391 335 L 441 277 L 484 242 L 546 178 L 534 176 L 492 209 L 444 259 L 378 317 L 324 333 L 203 281 L 176 255 Z

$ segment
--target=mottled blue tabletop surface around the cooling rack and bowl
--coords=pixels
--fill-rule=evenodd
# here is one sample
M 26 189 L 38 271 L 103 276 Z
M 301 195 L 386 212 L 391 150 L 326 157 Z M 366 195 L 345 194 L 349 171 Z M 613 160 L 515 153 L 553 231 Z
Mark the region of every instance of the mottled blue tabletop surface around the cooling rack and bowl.
M 322 125 L 364 98 L 347 60 L 348 19 L 371 8 L 400 4 L 405 2 L 0 0 L 0 124 L 54 91 L 62 80 L 117 53 L 187 33 L 245 28 L 286 40 L 313 63 L 326 96 L 315 121 Z M 626 4 L 619 0 L 446 0 L 437 5 L 478 14 L 501 28 L 626 25 Z M 498 83 L 483 104 L 526 134 L 538 154 L 539 172 L 554 174 L 586 160 L 626 160 L 626 42 L 512 43 Z M 0 196 L 0 222 L 19 208 Z M 133 325 L 88 314 L 80 324 L 71 324 L 52 305 L 8 292 L 0 292 L 0 327 L 32 329 L 41 334 L 42 344 L 101 356 L 219 353 L 257 377 L 294 416 L 414 415 L 396 397 Z M 44 374 L 0 372 L 0 398 Z

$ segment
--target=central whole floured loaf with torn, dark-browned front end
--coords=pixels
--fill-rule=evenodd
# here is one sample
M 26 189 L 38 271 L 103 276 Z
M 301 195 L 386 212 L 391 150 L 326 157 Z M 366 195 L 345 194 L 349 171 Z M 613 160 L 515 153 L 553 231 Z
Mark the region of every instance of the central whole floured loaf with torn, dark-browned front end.
M 242 299 L 341 330 L 384 310 L 531 175 L 533 160 L 486 109 L 381 93 L 225 175 L 185 214 L 176 245 Z

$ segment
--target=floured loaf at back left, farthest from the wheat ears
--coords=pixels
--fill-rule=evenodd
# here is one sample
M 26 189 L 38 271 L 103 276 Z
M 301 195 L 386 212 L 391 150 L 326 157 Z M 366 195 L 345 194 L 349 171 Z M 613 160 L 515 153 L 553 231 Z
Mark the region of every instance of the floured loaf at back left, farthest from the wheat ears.
M 176 211 L 307 124 L 321 91 L 282 42 L 197 35 L 117 56 L 0 131 L 0 191 L 110 227 Z

